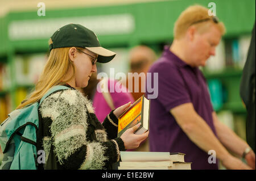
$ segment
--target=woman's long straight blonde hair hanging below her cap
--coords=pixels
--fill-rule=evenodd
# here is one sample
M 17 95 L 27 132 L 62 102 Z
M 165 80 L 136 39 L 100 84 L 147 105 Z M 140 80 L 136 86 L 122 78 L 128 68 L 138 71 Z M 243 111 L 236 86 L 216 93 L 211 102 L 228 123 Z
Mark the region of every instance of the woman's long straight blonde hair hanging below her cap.
M 51 87 L 64 85 L 65 82 L 68 82 L 75 76 L 75 66 L 69 58 L 70 48 L 71 47 L 55 48 L 51 50 L 43 72 L 39 77 L 38 83 L 36 83 L 35 90 L 31 92 L 28 99 L 16 109 L 38 102 Z M 64 80 L 70 68 L 72 68 L 73 74 L 71 78 Z

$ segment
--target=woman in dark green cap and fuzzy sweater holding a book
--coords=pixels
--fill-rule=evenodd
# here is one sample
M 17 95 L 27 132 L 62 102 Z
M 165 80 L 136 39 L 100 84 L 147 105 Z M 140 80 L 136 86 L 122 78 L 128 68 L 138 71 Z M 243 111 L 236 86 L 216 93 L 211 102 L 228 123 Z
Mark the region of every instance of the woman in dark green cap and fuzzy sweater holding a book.
M 115 53 L 102 48 L 95 33 L 80 24 L 68 24 L 53 33 L 49 50 L 35 91 L 18 106 L 38 102 L 56 85 L 67 87 L 48 95 L 39 106 L 42 137 L 37 149 L 45 151 L 46 164 L 38 169 L 111 169 L 120 151 L 138 148 L 148 132 L 135 135 L 139 126 L 135 125 L 117 138 L 117 117 L 130 103 L 110 112 L 101 124 L 92 103 L 76 88 L 88 85 L 97 71 L 96 62 L 109 62 Z

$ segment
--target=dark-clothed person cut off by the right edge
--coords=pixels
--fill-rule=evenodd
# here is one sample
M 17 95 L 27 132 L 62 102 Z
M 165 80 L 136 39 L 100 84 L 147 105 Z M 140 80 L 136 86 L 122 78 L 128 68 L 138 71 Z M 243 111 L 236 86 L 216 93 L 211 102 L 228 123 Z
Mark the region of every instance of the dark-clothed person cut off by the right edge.
M 240 96 L 247 110 L 246 140 L 255 153 L 255 23 L 251 34 L 251 43 L 247 54 L 240 85 Z M 245 157 L 251 154 L 246 151 Z M 254 162 L 255 164 L 255 162 Z

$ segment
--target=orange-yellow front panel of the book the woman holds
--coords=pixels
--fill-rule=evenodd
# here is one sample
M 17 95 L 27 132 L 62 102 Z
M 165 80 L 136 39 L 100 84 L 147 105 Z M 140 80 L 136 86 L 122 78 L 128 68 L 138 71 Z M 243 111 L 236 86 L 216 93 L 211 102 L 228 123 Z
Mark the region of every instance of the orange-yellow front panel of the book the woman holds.
M 124 113 L 118 119 L 118 133 L 122 131 L 123 128 L 125 128 L 129 123 L 131 123 L 131 121 L 135 119 L 135 117 L 137 117 L 141 113 L 142 99 L 139 100 L 137 104 L 135 104 L 133 107 L 129 109 L 129 111 Z

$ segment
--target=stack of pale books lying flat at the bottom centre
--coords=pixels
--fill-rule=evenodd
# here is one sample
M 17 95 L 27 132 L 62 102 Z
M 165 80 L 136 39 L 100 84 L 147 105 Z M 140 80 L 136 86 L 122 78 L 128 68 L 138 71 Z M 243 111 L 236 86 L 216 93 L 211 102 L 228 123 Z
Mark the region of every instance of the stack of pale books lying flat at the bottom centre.
M 118 170 L 191 170 L 184 153 L 120 151 Z

